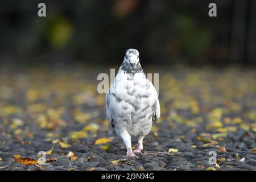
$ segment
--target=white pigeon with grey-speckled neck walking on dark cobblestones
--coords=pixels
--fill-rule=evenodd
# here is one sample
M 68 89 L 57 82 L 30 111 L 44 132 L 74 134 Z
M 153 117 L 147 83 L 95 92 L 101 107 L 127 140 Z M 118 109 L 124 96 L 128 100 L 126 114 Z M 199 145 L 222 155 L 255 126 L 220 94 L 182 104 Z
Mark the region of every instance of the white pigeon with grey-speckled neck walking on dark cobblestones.
M 159 117 L 158 93 L 142 70 L 139 52 L 128 49 L 106 94 L 106 118 L 125 143 L 127 156 L 138 157 L 134 153 L 141 153 L 142 141 Z M 131 136 L 138 136 L 134 151 Z

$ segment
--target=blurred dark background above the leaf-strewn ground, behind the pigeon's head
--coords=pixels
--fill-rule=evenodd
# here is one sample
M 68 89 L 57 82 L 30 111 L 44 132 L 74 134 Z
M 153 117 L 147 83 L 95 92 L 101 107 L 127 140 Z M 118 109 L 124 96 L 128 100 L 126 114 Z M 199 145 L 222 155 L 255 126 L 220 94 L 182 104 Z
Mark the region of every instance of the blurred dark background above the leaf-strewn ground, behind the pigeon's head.
M 143 64 L 256 63 L 253 0 L 1 1 L 0 22 L 3 64 L 120 64 L 127 48 Z

